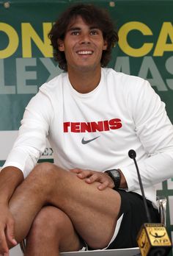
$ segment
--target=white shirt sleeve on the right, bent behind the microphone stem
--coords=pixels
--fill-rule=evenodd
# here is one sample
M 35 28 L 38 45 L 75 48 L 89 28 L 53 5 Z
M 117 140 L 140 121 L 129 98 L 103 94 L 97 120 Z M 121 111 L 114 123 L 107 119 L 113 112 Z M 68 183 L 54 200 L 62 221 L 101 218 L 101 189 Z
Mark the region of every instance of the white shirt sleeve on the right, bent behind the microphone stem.
M 137 86 L 133 96 L 128 96 L 128 107 L 135 124 L 136 136 L 141 141 L 146 159 L 141 160 L 136 150 L 136 161 L 145 188 L 173 177 L 173 127 L 165 104 L 144 81 Z M 131 93 L 132 94 L 132 93 Z M 134 164 L 122 167 L 128 191 L 139 190 L 139 180 Z

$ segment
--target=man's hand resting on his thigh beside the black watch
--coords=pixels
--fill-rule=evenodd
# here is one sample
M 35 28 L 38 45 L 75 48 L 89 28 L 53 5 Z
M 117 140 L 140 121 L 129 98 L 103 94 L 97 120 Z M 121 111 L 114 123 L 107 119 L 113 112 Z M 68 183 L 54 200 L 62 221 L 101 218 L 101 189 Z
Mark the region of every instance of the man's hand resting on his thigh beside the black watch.
M 74 168 L 70 170 L 71 172 L 77 174 L 80 179 L 85 179 L 85 182 L 92 184 L 93 182 L 100 182 L 97 188 L 103 191 L 105 188 L 114 188 L 114 182 L 108 174 L 100 171 L 84 170 L 80 168 Z

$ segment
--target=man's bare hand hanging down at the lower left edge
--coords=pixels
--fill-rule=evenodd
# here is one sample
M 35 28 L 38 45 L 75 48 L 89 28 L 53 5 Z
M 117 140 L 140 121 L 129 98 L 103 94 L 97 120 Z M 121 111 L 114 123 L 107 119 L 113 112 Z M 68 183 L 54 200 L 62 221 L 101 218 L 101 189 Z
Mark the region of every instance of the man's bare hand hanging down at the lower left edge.
M 14 236 L 14 219 L 7 205 L 0 204 L 0 255 L 9 255 L 8 244 L 17 245 Z

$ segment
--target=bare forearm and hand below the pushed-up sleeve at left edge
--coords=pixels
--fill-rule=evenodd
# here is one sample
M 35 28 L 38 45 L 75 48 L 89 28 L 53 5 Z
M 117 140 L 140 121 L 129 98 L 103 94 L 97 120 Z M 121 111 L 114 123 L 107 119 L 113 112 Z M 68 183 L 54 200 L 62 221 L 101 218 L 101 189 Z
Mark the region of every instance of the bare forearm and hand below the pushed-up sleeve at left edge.
M 8 203 L 15 188 L 23 181 L 20 169 L 9 166 L 0 172 L 0 254 L 8 253 L 8 244 L 16 245 L 14 237 L 14 220 Z

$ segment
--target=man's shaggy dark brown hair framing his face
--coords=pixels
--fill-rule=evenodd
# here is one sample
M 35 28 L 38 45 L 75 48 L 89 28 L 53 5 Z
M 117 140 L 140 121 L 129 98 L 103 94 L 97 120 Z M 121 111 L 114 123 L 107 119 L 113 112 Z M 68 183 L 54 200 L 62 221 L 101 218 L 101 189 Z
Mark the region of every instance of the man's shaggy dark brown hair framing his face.
M 57 42 L 59 39 L 65 39 L 65 33 L 70 21 L 77 18 L 78 15 L 81 16 L 87 24 L 93 24 L 102 31 L 103 39 L 107 41 L 108 46 L 107 49 L 103 51 L 100 63 L 102 67 L 106 67 L 111 59 L 111 48 L 115 46 L 119 38 L 108 12 L 104 9 L 95 7 L 93 4 L 76 4 L 69 7 L 52 26 L 48 38 L 50 38 L 51 45 L 54 49 L 54 60 L 59 63 L 59 68 L 67 71 L 65 52 L 59 51 Z

